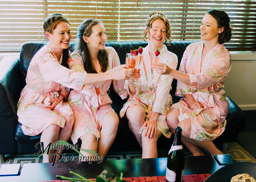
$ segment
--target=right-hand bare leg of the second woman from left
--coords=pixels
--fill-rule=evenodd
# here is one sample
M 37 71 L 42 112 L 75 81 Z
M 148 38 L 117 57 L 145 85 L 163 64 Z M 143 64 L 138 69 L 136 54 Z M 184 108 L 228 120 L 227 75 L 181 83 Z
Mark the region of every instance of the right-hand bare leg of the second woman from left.
M 99 138 L 98 144 L 99 156 L 106 157 L 106 154 L 115 140 L 118 124 L 119 119 L 116 113 L 106 113 L 102 121 L 101 138 Z

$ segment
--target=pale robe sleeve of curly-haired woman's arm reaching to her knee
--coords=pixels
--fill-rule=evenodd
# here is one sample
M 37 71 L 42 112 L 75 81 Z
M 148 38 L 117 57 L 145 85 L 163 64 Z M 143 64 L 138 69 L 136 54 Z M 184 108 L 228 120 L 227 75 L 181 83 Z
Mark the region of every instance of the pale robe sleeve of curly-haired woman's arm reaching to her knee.
M 167 61 L 168 62 L 168 61 Z M 173 56 L 171 63 L 168 64 L 170 68 L 176 69 L 178 65 L 177 56 Z M 167 97 L 170 93 L 171 83 L 173 81 L 173 77 L 169 75 L 161 75 L 160 82 L 156 89 L 155 102 L 152 107 L 152 111 L 164 114 L 164 105 L 167 100 Z

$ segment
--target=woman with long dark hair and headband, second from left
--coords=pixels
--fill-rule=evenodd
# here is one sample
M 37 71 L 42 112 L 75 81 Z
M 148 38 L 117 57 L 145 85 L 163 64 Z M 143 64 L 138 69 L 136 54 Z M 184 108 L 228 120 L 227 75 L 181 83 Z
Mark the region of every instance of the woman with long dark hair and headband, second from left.
M 105 157 L 115 140 L 119 119 L 111 107 L 108 89 L 113 83 L 115 92 L 122 99 L 127 97 L 124 77 L 132 75 L 132 69 L 120 65 L 114 48 L 105 47 L 107 37 L 101 21 L 85 19 L 78 27 L 76 50 L 70 54 L 69 67 L 76 72 L 113 73 L 121 78 L 102 80 L 98 84 L 88 84 L 81 91 L 72 90 L 68 103 L 74 112 L 74 126 L 71 139 L 74 144 L 80 138 L 82 149 L 94 150 Z M 137 74 L 137 73 L 136 73 Z M 135 76 L 135 78 L 138 76 Z M 128 78 L 128 77 L 126 77 Z M 92 156 L 80 151 L 84 156 Z

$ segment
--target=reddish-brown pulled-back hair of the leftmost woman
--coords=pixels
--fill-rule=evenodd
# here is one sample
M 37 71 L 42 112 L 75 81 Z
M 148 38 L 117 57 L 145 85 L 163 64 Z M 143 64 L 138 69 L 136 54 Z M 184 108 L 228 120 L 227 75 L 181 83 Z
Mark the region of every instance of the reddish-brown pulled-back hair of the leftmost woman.
M 55 14 L 48 16 L 45 19 L 45 21 L 43 22 L 43 34 L 45 35 L 45 32 L 49 32 L 50 34 L 52 34 L 53 30 L 57 27 L 57 25 L 60 22 L 66 22 L 70 25 L 68 19 L 65 16 L 63 16 L 62 14 L 55 13 Z M 66 68 L 69 68 L 68 57 L 69 57 L 69 49 L 63 49 L 61 65 L 65 66 Z

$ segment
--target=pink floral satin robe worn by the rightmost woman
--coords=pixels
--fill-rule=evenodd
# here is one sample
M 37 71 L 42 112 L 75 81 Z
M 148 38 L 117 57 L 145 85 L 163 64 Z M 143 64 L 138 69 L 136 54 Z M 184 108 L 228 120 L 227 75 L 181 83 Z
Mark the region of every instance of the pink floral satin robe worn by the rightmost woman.
M 190 85 L 178 81 L 177 96 L 191 94 L 203 108 L 191 110 L 186 98 L 172 108 L 180 109 L 179 121 L 191 119 L 190 138 L 209 141 L 219 137 L 226 126 L 229 102 L 223 90 L 231 68 L 231 56 L 224 45 L 216 45 L 201 60 L 204 41 L 190 44 L 184 52 L 180 70 L 190 77 Z

